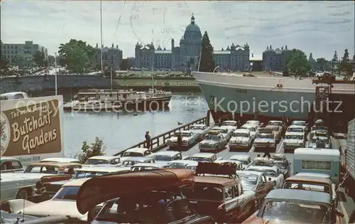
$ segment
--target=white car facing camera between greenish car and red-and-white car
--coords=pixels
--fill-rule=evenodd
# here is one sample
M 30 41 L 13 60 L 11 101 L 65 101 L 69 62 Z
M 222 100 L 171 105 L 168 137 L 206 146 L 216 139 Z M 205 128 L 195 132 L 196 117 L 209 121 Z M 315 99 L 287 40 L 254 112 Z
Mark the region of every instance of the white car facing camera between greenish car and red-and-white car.
M 229 140 L 229 151 L 235 149 L 250 149 L 252 144 L 249 129 L 236 129 Z

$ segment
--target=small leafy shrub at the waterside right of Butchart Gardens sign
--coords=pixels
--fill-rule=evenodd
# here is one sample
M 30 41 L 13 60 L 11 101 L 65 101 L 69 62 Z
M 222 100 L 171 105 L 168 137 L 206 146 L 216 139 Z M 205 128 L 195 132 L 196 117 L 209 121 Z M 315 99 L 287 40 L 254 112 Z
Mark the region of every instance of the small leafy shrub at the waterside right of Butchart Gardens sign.
M 104 156 L 104 142 L 102 142 L 102 139 L 99 139 L 99 137 L 95 137 L 95 142 L 93 142 L 91 145 L 87 144 L 87 142 L 82 142 L 82 149 L 79 154 L 77 154 L 75 157 L 79 159 L 81 164 L 84 164 L 87 159 L 89 159 L 92 156 Z

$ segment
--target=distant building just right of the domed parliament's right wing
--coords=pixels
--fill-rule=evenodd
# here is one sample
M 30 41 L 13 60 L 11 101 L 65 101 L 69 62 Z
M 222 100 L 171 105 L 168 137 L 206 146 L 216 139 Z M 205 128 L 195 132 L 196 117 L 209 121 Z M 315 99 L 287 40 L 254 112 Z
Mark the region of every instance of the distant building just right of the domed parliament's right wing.
M 288 46 L 273 49 L 272 46 L 266 47 L 263 52 L 263 69 L 281 72 L 285 69 L 285 53 Z

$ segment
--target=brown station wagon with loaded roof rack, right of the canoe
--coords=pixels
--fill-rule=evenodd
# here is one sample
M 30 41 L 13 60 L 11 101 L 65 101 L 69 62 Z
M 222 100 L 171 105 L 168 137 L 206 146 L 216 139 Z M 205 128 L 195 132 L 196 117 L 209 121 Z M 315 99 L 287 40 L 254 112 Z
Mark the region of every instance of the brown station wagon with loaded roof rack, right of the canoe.
M 235 164 L 200 163 L 196 174 L 193 190 L 183 193 L 198 214 L 213 215 L 217 223 L 240 223 L 251 215 L 254 193 L 243 191 Z

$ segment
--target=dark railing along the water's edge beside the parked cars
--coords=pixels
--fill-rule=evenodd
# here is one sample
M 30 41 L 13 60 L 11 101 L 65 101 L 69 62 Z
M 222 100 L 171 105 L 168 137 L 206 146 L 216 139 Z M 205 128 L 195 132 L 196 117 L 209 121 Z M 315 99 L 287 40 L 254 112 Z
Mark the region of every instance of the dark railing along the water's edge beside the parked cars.
M 155 152 L 155 151 L 159 151 L 160 149 L 165 148 L 168 143 L 167 140 L 170 139 L 170 137 L 172 137 L 175 132 L 190 129 L 191 125 L 193 125 L 193 124 L 207 124 L 207 125 L 209 125 L 209 112 L 207 113 L 207 117 L 202 117 L 202 118 L 197 119 L 193 122 L 190 122 L 189 124 L 185 124 L 183 126 L 175 128 L 169 132 L 165 132 L 163 134 L 159 134 L 156 137 L 153 137 L 151 139 L 151 151 Z M 139 142 L 138 144 L 135 144 L 135 145 L 129 147 L 128 149 L 144 148 L 144 147 L 146 147 L 146 141 Z M 125 149 L 124 151 L 120 151 L 119 153 L 114 154 L 114 156 L 122 155 L 128 149 Z

